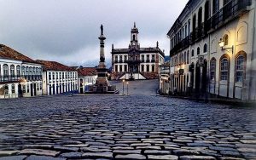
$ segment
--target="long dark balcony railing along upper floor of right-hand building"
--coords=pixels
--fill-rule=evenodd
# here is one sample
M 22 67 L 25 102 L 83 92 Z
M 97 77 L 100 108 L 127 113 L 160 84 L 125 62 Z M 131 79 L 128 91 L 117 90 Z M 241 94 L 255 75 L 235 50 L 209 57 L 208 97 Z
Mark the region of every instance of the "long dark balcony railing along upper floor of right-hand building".
M 200 26 L 195 28 L 188 37 L 185 37 L 183 40 L 179 41 L 170 50 L 170 55 L 172 56 L 173 54 L 176 54 L 179 50 L 186 49 L 189 47 L 189 45 L 194 44 L 197 40 L 206 37 L 208 31 L 210 31 L 211 29 L 217 29 L 219 26 L 227 23 L 228 20 L 236 17 L 236 15 L 242 13 L 243 11 L 246 11 L 247 6 L 250 6 L 251 3 L 252 0 L 239 0 L 236 1 L 236 3 L 234 1 L 230 1 L 230 3 L 225 4 L 224 7 L 218 10 L 216 14 L 213 14 L 210 19 L 201 23 Z

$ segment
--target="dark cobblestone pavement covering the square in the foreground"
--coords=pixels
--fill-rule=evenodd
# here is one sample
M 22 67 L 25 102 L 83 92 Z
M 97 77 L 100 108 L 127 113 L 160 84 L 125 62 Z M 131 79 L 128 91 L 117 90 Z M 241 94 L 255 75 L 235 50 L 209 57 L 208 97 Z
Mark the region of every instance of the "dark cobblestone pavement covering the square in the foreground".
M 150 95 L 0 100 L 0 160 L 256 159 L 255 115 Z

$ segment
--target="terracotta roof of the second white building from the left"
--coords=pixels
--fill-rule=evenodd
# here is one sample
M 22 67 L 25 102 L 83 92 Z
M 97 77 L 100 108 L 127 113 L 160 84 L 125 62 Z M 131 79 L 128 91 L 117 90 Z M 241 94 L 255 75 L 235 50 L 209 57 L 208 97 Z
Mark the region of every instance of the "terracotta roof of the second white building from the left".
M 44 71 L 76 71 L 72 67 L 65 66 L 56 61 L 37 60 L 37 62 L 44 66 Z

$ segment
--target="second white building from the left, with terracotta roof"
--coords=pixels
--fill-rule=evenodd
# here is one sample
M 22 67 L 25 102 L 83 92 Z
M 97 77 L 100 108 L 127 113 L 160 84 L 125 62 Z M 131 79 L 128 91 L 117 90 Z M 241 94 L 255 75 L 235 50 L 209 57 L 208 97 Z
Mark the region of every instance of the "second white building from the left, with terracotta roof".
M 55 61 L 37 60 L 43 67 L 43 94 L 78 93 L 78 71 Z

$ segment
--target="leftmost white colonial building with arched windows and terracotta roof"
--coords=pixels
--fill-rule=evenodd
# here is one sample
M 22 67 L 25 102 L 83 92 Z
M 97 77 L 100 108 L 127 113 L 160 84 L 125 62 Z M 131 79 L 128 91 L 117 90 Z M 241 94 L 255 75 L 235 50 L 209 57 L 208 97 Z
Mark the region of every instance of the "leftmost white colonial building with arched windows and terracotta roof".
M 42 65 L 0 44 L 0 99 L 42 95 Z

